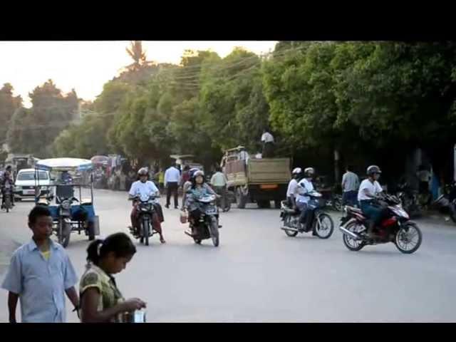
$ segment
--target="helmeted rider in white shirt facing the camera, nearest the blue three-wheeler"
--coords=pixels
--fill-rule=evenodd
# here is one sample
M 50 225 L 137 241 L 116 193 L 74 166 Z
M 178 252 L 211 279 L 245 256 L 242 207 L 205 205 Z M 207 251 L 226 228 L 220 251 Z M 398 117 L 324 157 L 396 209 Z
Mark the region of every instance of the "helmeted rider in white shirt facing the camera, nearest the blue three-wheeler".
M 136 197 L 140 197 L 142 200 L 148 199 L 150 196 L 155 195 L 158 196 L 160 195 L 159 190 L 155 186 L 153 182 L 150 182 L 150 180 L 147 180 L 149 177 L 149 172 L 147 172 L 147 169 L 145 167 L 140 168 L 138 170 L 138 177 L 139 180 L 134 182 L 131 185 L 130 192 L 129 192 L 129 197 L 128 199 L 133 199 L 133 209 L 130 214 L 130 219 L 131 219 L 131 227 L 133 227 L 134 231 L 138 234 L 139 232 L 139 222 L 138 222 L 138 214 L 139 214 L 139 209 L 138 209 L 138 201 L 135 200 Z M 163 219 L 163 211 L 162 207 L 158 202 L 154 202 L 154 208 L 155 212 L 152 215 L 152 227 L 155 229 L 155 231 L 160 234 L 160 242 L 162 244 L 165 243 L 165 239 L 163 238 L 162 234 L 162 225 L 161 222 L 164 221 Z

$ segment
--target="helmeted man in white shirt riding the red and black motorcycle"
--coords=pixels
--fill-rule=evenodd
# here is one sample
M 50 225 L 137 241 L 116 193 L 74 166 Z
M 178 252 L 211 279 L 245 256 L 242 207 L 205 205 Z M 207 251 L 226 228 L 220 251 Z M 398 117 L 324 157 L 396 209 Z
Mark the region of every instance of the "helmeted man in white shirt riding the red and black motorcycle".
M 377 165 L 371 165 L 368 167 L 367 175 L 368 179 L 363 180 L 358 191 L 358 202 L 361 207 L 361 211 L 368 218 L 368 235 L 371 236 L 373 228 L 376 224 L 380 224 L 382 219 L 383 209 L 375 206 L 374 200 L 383 192 L 382 187 L 378 183 L 380 178 L 380 167 Z

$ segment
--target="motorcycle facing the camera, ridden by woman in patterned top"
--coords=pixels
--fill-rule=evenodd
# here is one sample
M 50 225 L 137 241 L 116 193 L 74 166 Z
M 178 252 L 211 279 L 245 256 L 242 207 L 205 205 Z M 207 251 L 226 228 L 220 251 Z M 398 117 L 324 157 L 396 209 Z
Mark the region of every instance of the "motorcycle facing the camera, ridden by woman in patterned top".
M 185 234 L 192 237 L 196 244 L 201 244 L 202 240 L 212 239 L 214 247 L 219 246 L 219 209 L 215 204 L 217 196 L 206 195 L 202 197 L 195 197 L 192 192 L 187 193 L 188 197 L 192 197 L 195 204 L 199 208 L 201 215 L 199 216 L 199 222 L 190 222 L 194 227 L 194 234 L 191 230 L 186 230 Z

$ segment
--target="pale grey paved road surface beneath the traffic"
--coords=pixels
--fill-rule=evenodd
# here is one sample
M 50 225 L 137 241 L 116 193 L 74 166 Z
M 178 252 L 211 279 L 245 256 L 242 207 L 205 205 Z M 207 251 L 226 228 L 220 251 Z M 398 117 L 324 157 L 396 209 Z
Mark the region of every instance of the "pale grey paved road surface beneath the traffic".
M 32 206 L 21 202 L 0 212 L 3 254 L 9 239 L 30 239 Z M 102 237 L 128 232 L 130 208 L 125 192 L 95 192 Z M 286 237 L 278 210 L 251 204 L 222 214 L 221 244 L 214 248 L 210 240 L 193 243 L 179 211 L 164 210 L 167 244 L 157 235 L 149 247 L 135 241 L 138 253 L 116 276 L 125 297 L 147 301 L 147 321 L 456 321 L 456 227 L 450 224 L 418 222 L 423 244 L 415 254 L 401 254 L 393 244 L 350 252 L 338 229 L 328 240 Z M 331 214 L 337 223 L 340 215 Z M 68 253 L 79 276 L 87 245 L 84 235 L 72 234 Z M 2 262 L 5 257 L 0 273 Z M 0 321 L 8 317 L 6 298 L 1 290 Z M 68 321 L 77 322 L 69 301 L 67 309 Z

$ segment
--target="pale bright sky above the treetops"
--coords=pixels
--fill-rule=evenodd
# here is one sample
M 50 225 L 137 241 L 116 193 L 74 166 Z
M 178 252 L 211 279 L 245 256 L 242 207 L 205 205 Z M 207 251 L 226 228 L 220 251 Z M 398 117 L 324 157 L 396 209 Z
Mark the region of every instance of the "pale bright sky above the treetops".
M 142 41 L 147 60 L 180 63 L 185 49 L 217 52 L 224 57 L 235 46 L 254 53 L 274 50 L 275 41 Z M 84 100 L 94 100 L 103 84 L 133 60 L 125 52 L 129 41 L 0 41 L 0 88 L 11 83 L 29 107 L 28 93 L 49 78 L 63 93 L 71 88 Z

